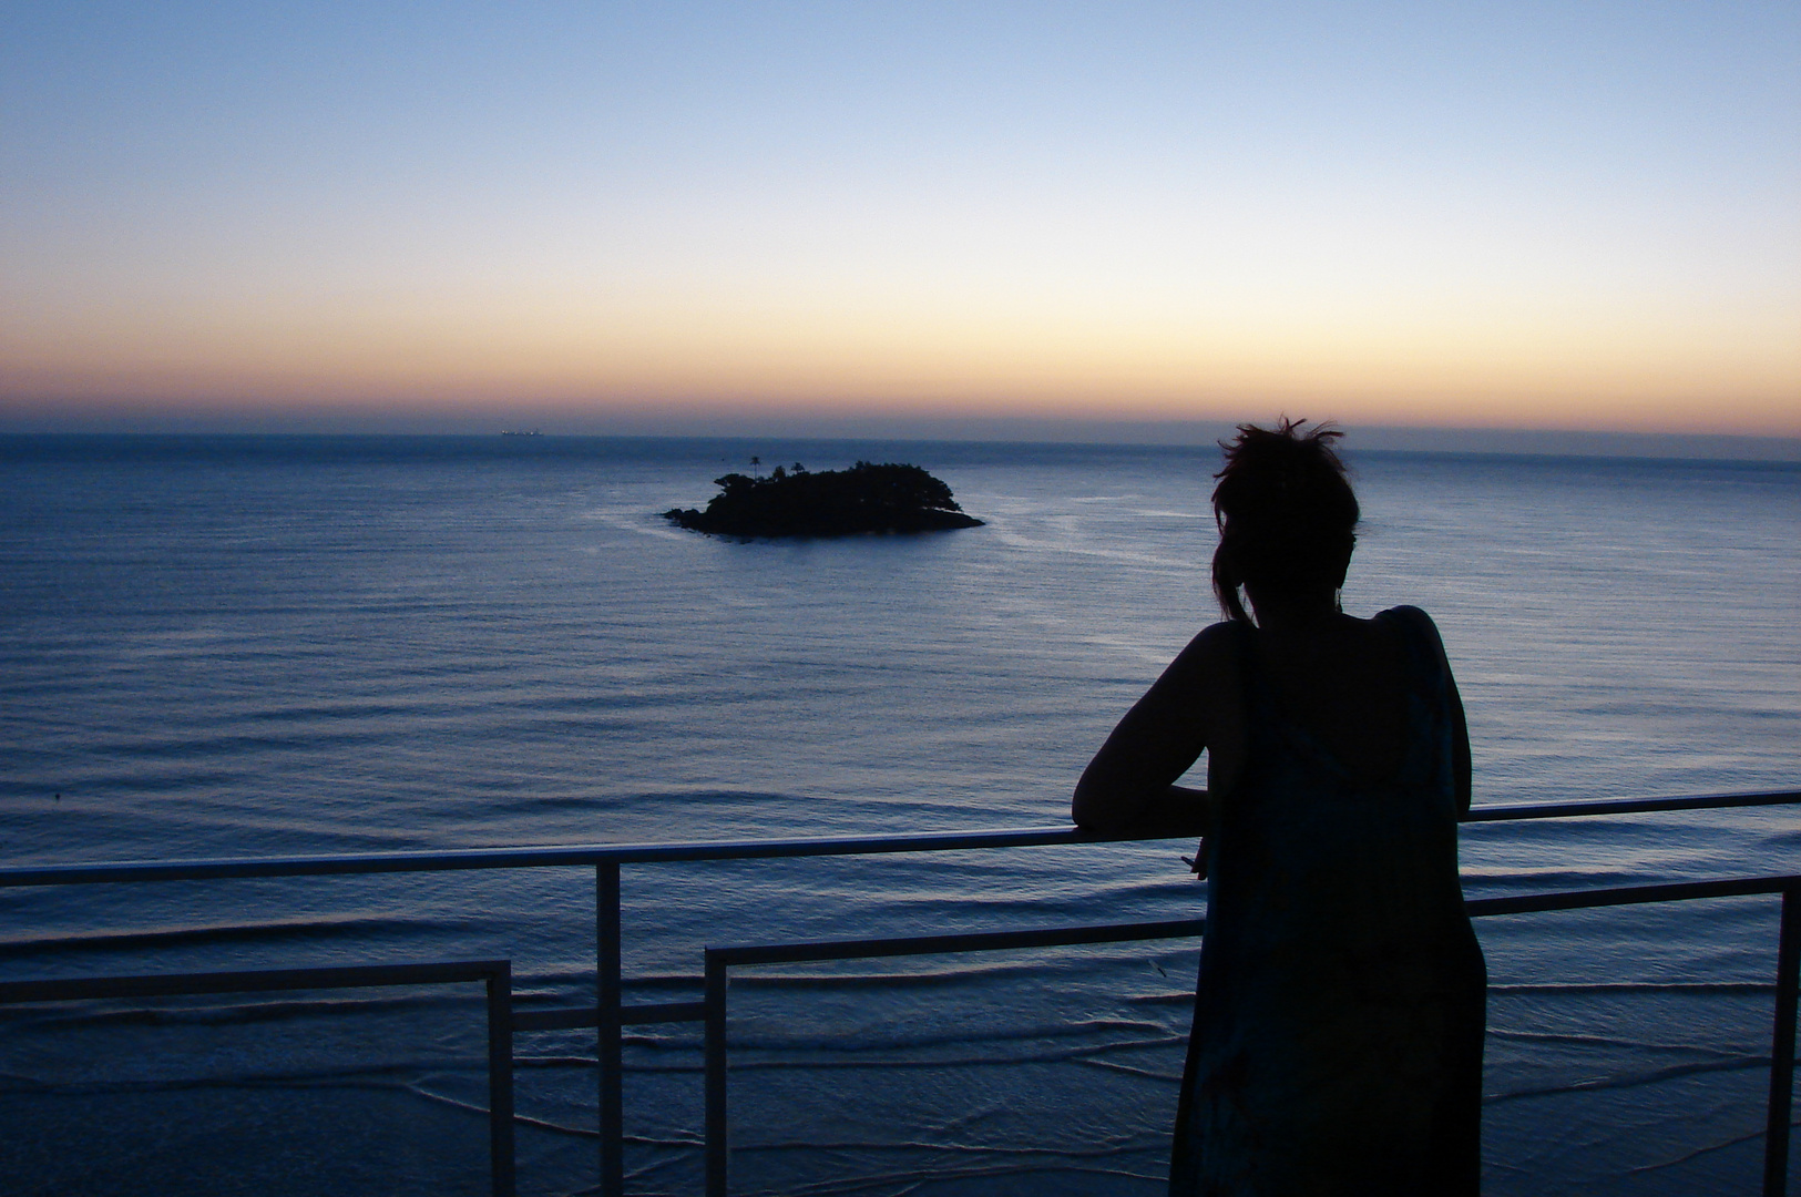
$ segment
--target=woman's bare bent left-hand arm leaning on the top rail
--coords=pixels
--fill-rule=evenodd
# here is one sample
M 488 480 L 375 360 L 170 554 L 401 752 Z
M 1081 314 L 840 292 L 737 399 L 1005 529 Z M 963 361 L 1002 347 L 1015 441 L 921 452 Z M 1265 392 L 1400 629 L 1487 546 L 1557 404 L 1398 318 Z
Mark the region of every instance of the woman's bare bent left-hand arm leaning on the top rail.
M 1176 778 L 1207 747 L 1223 650 L 1217 625 L 1207 628 L 1133 704 L 1075 785 L 1070 815 L 1079 826 L 1100 835 L 1205 833 L 1207 792 L 1178 787 Z

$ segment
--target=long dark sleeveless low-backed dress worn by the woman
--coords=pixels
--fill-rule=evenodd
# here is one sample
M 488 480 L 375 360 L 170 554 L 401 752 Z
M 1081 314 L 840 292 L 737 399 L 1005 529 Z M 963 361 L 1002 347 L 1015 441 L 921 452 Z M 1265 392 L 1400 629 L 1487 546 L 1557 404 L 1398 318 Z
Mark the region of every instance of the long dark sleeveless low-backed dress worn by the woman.
M 1356 781 L 1284 718 L 1243 626 L 1248 752 L 1208 837 L 1172 1197 L 1477 1193 L 1486 970 L 1457 877 L 1450 679 L 1425 612 L 1407 747 Z

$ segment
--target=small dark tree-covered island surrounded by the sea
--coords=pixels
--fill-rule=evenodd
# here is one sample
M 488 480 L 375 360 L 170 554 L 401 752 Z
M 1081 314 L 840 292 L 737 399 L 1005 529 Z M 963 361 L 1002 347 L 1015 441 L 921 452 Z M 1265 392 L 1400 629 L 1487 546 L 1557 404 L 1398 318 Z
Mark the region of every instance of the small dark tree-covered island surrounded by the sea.
M 751 459 L 753 464 L 756 459 Z M 674 508 L 665 518 L 720 536 L 855 536 L 982 527 L 951 488 L 919 466 L 859 461 L 848 470 L 810 473 L 800 463 L 769 477 L 728 473 L 706 511 Z

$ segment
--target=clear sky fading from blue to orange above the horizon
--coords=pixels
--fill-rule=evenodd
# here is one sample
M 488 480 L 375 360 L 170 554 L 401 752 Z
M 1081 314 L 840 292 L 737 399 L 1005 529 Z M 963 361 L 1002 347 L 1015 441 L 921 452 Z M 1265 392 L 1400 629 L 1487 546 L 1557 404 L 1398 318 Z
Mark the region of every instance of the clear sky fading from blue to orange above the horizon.
M 1801 437 L 1792 0 L 0 34 L 4 428 Z

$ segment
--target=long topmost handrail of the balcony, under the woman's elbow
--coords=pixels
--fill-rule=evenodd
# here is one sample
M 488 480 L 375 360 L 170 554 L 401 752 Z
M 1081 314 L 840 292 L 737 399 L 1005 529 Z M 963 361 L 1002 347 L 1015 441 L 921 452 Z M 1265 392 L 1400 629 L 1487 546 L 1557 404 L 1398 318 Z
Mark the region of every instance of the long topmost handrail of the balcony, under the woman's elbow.
M 1801 790 L 1697 794 L 1688 797 L 1601 799 L 1522 806 L 1477 806 L 1468 823 L 1567 819 L 1646 810 L 1718 810 L 1801 803 Z M 312 857 L 238 857 L 220 860 L 122 860 L 43 864 L 0 869 L 0 886 L 88 886 L 99 882 L 175 882 L 254 877 L 333 877 L 364 873 L 439 873 L 454 869 L 522 869 L 677 860 L 774 860 L 792 857 L 861 857 L 899 851 L 967 848 L 1043 848 L 1171 839 L 1160 832 L 1095 835 L 1073 826 L 996 828 L 985 832 L 915 832 L 904 835 L 821 835 L 810 839 L 690 841 L 666 844 L 571 844 L 544 848 L 457 848 L 448 851 L 380 851 Z

